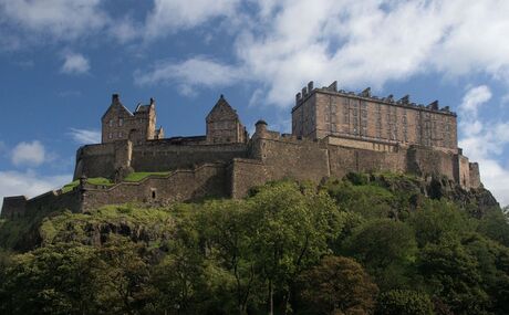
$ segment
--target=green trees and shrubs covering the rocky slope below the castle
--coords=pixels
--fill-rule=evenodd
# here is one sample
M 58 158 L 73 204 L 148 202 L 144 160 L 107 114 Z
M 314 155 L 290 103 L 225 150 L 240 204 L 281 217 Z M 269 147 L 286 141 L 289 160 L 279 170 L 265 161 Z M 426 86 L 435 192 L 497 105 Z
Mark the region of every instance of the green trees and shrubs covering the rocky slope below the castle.
M 509 223 L 445 179 L 0 223 L 1 314 L 508 314 Z

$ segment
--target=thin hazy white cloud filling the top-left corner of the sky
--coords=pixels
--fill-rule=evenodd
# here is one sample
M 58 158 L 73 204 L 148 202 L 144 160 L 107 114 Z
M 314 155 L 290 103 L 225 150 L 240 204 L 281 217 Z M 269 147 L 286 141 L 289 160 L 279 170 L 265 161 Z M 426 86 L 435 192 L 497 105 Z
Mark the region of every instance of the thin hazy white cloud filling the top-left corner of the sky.
M 24 30 L 56 39 L 76 39 L 108 19 L 101 0 L 0 0 L 0 17 Z

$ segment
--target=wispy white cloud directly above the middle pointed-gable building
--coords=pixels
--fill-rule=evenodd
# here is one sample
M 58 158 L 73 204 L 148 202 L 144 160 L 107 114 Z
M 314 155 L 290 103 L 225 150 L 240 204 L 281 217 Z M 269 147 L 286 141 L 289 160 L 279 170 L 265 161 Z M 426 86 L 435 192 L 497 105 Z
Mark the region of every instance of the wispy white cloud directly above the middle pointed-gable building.
M 147 73 L 137 72 L 137 84 L 157 84 L 176 82 L 178 85 L 216 87 L 230 85 L 242 76 L 241 70 L 214 60 L 197 56 L 181 63 L 158 62 Z

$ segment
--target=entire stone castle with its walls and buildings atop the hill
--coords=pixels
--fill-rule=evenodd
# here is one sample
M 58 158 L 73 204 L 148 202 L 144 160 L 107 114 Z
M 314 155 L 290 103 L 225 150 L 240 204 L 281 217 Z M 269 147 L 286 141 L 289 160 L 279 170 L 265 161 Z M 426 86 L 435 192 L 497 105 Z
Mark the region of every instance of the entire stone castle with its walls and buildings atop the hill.
M 156 128 L 156 104 L 134 113 L 117 94 L 102 117 L 102 143 L 76 153 L 74 180 L 62 189 L 27 199 L 3 199 L 2 218 L 42 210 L 85 212 L 104 204 L 167 204 L 205 197 L 241 198 L 269 180 L 319 182 L 351 171 L 389 170 L 422 177 L 445 176 L 461 188 L 480 188 L 479 168 L 457 146 L 457 116 L 438 102 L 427 106 L 337 91 L 336 82 L 295 96 L 292 134 L 256 123 L 249 137 L 237 112 L 221 95 L 206 117 L 206 135 L 165 138 Z M 143 179 L 126 180 L 144 172 Z M 92 178 L 108 178 L 111 185 Z

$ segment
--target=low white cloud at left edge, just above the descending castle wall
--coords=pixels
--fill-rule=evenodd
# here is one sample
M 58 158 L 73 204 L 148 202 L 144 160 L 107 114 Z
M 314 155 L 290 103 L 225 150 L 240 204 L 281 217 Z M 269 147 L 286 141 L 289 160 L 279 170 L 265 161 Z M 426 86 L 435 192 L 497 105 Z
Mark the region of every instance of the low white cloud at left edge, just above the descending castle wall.
M 0 171 L 0 207 L 3 197 L 18 195 L 34 197 L 60 188 L 71 180 L 71 175 L 40 176 L 34 171 Z

